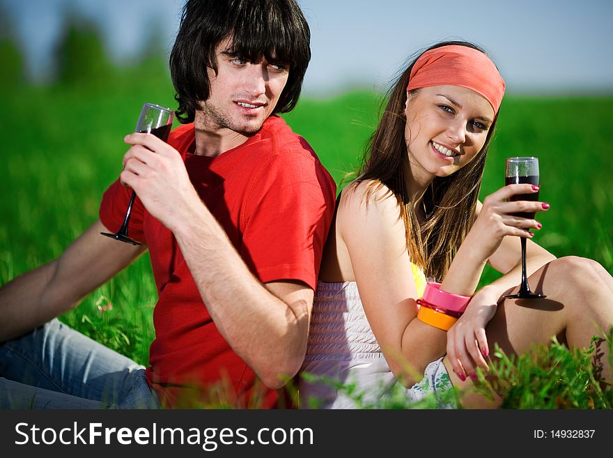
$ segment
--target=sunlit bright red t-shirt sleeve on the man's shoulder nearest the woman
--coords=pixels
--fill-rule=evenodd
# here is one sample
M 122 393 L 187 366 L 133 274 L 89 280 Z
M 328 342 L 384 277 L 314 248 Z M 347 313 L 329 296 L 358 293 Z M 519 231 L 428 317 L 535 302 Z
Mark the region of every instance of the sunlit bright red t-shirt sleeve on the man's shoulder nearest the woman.
M 336 186 L 302 151 L 271 158 L 256 175 L 240 218 L 240 254 L 263 283 L 299 280 L 317 286 Z

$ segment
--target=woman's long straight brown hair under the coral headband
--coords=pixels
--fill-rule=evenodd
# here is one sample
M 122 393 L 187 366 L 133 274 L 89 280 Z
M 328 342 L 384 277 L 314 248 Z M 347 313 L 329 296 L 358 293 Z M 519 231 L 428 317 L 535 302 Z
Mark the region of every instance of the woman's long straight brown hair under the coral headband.
M 472 43 L 458 41 L 438 43 L 428 49 L 446 45 L 468 46 L 484 52 Z M 426 277 L 442 281 L 474 222 L 483 168 L 496 119 L 476 158 L 449 176 L 434 178 L 424 194 L 426 220 L 419 224 L 406 186 L 410 164 L 405 143 L 406 88 L 418 58 L 412 60 L 389 91 L 381 121 L 368 141 L 359 178 L 350 188 L 362 181 L 372 181 L 368 185 L 366 199 L 382 185 L 394 194 L 400 207 L 399 217 L 402 217 L 405 225 L 406 245 L 411 261 L 424 269 Z

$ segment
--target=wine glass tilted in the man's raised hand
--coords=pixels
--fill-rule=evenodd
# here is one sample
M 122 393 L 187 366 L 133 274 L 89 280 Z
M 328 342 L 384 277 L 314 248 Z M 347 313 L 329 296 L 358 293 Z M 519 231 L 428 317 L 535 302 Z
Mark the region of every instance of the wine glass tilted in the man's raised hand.
M 166 107 L 160 107 L 155 103 L 146 103 L 141 109 L 141 116 L 137 122 L 137 127 L 134 132 L 153 134 L 155 137 L 162 139 L 164 142 L 168 139 L 173 122 L 173 111 Z M 130 221 L 130 213 L 132 213 L 132 204 L 137 193 L 132 190 L 130 203 L 127 204 L 127 211 L 123 219 L 123 224 L 115 234 L 109 232 L 100 232 L 103 236 L 114 238 L 120 242 L 132 243 L 132 245 L 141 245 L 137 241 L 127 236 L 127 224 Z

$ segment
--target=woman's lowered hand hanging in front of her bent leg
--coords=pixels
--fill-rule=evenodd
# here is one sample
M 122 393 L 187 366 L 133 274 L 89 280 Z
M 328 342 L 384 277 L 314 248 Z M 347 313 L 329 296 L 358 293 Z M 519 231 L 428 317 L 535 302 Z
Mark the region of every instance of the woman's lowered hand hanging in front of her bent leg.
M 447 358 L 460 379 L 475 376 L 475 368 L 488 370 L 490 354 L 486 326 L 497 309 L 499 294 L 485 287 L 477 291 L 460 319 L 447 331 Z

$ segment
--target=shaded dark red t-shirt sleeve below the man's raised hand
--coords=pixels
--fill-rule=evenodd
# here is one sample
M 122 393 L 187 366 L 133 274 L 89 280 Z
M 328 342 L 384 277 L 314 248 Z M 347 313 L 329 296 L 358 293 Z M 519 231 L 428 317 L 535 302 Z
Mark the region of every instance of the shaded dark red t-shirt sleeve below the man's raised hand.
M 114 181 L 102 195 L 100 202 L 100 221 L 111 232 L 116 232 L 123 224 L 127 206 L 130 204 L 130 196 L 132 190 L 127 189 L 119 183 L 119 179 Z M 132 213 L 130 213 L 130 222 L 127 226 L 127 236 L 133 238 L 140 243 L 145 242 L 143 233 L 143 217 L 144 207 L 140 199 L 137 197 L 132 204 Z

